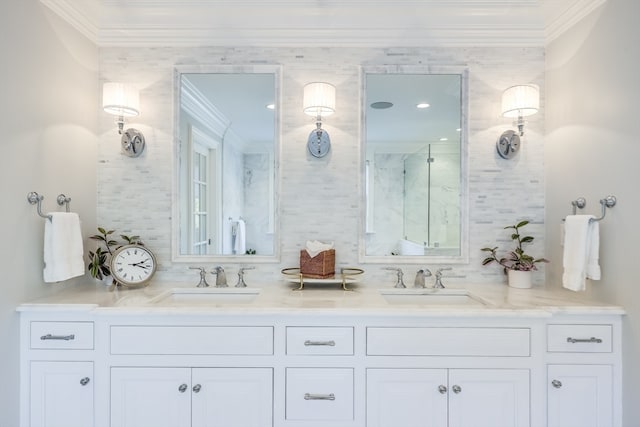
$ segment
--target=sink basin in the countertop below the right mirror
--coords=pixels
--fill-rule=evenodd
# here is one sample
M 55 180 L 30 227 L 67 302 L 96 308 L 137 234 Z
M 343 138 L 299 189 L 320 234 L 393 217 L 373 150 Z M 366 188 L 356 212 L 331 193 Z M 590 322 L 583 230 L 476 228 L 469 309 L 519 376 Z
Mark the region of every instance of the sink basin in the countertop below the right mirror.
M 389 304 L 484 306 L 485 302 L 466 289 L 380 289 Z

